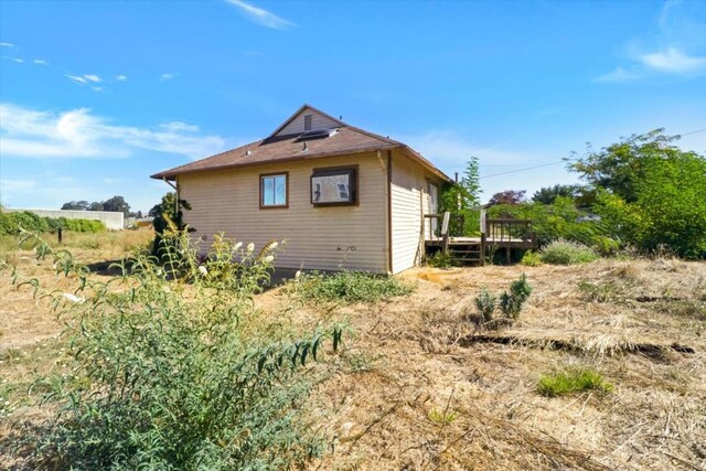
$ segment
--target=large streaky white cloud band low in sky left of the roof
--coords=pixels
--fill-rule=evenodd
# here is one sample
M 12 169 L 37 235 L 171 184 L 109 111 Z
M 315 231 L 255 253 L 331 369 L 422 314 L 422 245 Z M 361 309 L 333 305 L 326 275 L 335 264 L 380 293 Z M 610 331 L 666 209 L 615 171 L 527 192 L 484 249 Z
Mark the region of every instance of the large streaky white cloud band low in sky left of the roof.
M 1 104 L 0 152 L 3 158 L 110 159 L 149 150 L 201 159 L 225 149 L 223 138 L 181 125 L 113 126 L 86 108 L 54 113 Z

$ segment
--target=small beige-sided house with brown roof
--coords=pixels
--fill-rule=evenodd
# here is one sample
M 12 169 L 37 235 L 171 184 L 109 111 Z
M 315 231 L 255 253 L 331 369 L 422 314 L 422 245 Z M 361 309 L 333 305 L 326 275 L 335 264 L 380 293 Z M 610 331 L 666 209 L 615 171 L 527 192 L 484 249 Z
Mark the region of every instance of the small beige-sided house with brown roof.
M 303 105 L 265 139 L 152 175 L 195 235 L 286 240 L 278 268 L 396 274 L 424 254 L 449 176 L 408 146 Z

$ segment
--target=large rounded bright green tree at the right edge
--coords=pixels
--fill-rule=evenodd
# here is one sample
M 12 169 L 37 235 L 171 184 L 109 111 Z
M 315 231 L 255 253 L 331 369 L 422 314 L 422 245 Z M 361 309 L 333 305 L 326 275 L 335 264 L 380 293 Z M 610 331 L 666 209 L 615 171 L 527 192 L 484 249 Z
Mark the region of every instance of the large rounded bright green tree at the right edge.
M 593 211 L 623 243 L 706 258 L 706 158 L 656 130 L 592 152 L 573 168 L 596 191 Z

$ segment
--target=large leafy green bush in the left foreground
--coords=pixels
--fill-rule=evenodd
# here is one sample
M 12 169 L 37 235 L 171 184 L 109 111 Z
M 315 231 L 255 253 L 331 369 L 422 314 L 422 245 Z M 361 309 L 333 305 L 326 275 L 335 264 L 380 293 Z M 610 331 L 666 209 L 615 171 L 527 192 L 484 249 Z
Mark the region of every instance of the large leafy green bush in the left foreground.
M 60 310 L 73 357 L 65 375 L 34 388 L 50 392 L 56 415 L 19 432 L 35 448 L 33 464 L 260 470 L 320 454 L 322 437 L 298 413 L 319 376 L 303 366 L 327 339 L 336 350 L 341 328 L 302 335 L 258 315 L 252 297 L 269 276 L 272 245 L 258 254 L 220 237 L 202 263 L 186 234 L 164 237 L 164 265 L 136 255 L 108 281 L 33 239 L 77 282 L 73 292 L 45 292 L 4 267 Z

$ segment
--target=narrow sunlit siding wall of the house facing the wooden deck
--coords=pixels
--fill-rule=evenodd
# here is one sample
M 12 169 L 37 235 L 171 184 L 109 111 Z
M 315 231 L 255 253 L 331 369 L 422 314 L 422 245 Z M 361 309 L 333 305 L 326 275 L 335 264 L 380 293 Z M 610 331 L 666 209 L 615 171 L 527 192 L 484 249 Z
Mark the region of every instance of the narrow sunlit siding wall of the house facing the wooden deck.
M 393 274 L 420 263 L 422 214 L 429 213 L 429 182 L 440 186 L 437 176 L 404 154 L 395 152 L 392 165 Z

